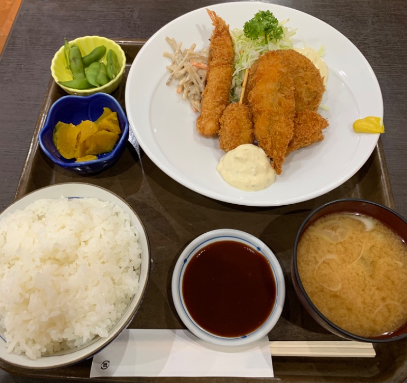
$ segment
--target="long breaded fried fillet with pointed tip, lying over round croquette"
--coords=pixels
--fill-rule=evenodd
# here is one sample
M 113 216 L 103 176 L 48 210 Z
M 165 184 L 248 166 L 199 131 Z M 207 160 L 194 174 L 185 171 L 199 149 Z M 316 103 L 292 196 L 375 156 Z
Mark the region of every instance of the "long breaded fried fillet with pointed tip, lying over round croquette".
M 295 97 L 292 76 L 277 51 L 268 51 L 257 60 L 248 102 L 253 115 L 258 146 L 268 157 L 277 174 L 285 159 L 288 143 L 293 138 Z M 246 90 L 247 91 L 247 90 Z

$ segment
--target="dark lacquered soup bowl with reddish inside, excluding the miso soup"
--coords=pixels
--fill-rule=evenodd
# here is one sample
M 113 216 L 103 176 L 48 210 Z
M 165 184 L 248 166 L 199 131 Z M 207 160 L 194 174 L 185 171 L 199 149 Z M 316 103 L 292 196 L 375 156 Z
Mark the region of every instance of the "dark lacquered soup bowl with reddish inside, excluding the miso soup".
M 296 236 L 293 249 L 291 274 L 294 289 L 300 299 L 301 304 L 303 305 L 305 310 L 310 314 L 310 316 L 322 327 L 324 327 L 324 329 L 345 339 L 372 343 L 384 343 L 406 338 L 407 323 L 399 327 L 399 329 L 397 329 L 394 332 L 372 338 L 365 338 L 347 332 L 341 329 L 338 325 L 336 325 L 332 321 L 330 321 L 328 318 L 326 318 L 321 313 L 321 311 L 319 311 L 316 308 L 316 306 L 313 304 L 312 300 L 306 293 L 304 286 L 301 282 L 301 278 L 297 267 L 297 248 L 299 241 L 305 230 L 316 220 L 327 214 L 341 212 L 364 214 L 376 218 L 376 220 L 381 221 L 383 224 L 385 224 L 395 233 L 397 233 L 403 239 L 404 242 L 407 241 L 407 221 L 405 220 L 405 218 L 403 218 L 400 214 L 396 213 L 392 209 L 379 203 L 361 199 L 342 199 L 328 202 L 325 205 L 316 208 L 305 218 L 304 222 L 301 224 Z

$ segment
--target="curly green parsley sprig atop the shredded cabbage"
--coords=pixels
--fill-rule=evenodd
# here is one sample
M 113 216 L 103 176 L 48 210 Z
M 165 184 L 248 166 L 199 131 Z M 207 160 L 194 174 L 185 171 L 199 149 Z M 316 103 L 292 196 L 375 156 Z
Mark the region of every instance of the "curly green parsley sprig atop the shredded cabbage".
M 243 32 L 250 39 L 264 36 L 265 43 L 270 40 L 280 40 L 283 36 L 282 26 L 270 11 L 258 11 L 252 19 L 245 22 Z

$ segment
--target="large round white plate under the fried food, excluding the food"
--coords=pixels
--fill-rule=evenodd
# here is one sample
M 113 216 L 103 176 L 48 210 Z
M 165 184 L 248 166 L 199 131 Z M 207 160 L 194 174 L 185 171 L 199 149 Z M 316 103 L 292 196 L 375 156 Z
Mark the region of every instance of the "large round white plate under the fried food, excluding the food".
M 319 112 L 329 120 L 322 142 L 291 153 L 275 183 L 261 191 L 242 191 L 228 185 L 216 171 L 220 157 L 217 138 L 203 138 L 196 132 L 196 113 L 166 85 L 165 68 L 172 51 L 165 37 L 209 44 L 211 20 L 205 8 L 187 13 L 160 29 L 142 47 L 134 60 L 126 85 L 126 110 L 130 127 L 141 148 L 154 163 L 181 184 L 202 195 L 240 205 L 287 205 L 321 196 L 352 177 L 373 151 L 379 134 L 358 134 L 355 120 L 366 116 L 383 118 L 379 84 L 362 53 L 346 37 L 327 23 L 306 13 L 273 4 L 242 2 L 208 7 L 230 25 L 243 28 L 258 10 L 269 9 L 278 20 L 297 29 L 294 46 L 304 43 L 315 49 L 325 45 L 324 60 L 329 75 Z

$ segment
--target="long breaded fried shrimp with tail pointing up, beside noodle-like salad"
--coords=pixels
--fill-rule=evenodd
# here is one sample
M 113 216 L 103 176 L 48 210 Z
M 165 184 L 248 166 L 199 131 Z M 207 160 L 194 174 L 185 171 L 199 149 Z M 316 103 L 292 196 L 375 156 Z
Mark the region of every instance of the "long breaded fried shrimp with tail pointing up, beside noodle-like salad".
M 219 132 L 220 117 L 229 104 L 229 93 L 233 74 L 234 49 L 229 25 L 208 11 L 214 30 L 211 36 L 207 82 L 202 93 L 201 112 L 196 119 L 196 129 L 206 137 Z

